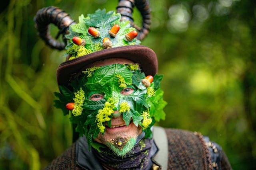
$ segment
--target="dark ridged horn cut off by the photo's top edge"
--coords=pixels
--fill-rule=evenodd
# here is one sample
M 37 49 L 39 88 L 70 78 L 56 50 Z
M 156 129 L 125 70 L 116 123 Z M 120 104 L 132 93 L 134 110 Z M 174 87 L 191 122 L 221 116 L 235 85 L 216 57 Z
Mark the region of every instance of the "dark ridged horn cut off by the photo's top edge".
M 133 22 L 132 12 L 136 6 L 142 16 L 142 28 L 136 26 Z M 142 40 L 146 37 L 150 28 L 150 3 L 149 0 L 119 0 L 117 12 L 121 14 L 121 20 L 128 20 L 132 23 L 133 27 L 138 29 L 137 39 Z

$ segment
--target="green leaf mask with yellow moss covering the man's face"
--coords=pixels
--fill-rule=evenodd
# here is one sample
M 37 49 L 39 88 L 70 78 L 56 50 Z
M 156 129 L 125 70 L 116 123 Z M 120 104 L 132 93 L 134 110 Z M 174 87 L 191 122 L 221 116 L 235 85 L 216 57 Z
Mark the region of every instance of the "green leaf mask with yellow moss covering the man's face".
M 162 76 L 155 75 L 148 88 L 142 84 L 143 78 L 145 74 L 138 70 L 138 65 L 111 64 L 90 68 L 72 81 L 74 92 L 60 86 L 62 94 L 56 93 L 60 100 L 55 105 L 67 114 L 64 106 L 75 103 L 74 116 L 70 120 L 78 125 L 76 131 L 80 135 L 86 135 L 89 148 L 92 139 L 100 132 L 104 134 L 105 123 L 111 126 L 116 110 L 122 113 L 126 125 L 132 118 L 134 125 L 140 125 L 146 137 L 151 137 L 150 127 L 165 117 L 166 102 L 159 88 Z

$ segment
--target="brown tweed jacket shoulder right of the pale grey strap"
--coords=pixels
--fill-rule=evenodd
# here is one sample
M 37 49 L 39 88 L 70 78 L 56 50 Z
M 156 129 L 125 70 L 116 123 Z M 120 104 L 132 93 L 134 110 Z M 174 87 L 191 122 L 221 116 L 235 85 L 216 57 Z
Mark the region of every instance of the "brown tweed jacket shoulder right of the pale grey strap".
M 165 131 L 168 169 L 232 169 L 221 147 L 208 137 L 181 129 L 165 128 Z

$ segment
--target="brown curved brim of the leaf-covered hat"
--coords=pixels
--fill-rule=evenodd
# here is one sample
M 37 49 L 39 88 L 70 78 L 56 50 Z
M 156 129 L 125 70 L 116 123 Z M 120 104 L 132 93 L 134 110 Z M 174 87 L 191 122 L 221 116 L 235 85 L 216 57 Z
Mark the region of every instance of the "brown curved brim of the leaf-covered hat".
M 143 45 L 126 45 L 96 51 L 88 55 L 65 61 L 57 69 L 57 82 L 59 86 L 68 86 L 72 74 L 81 72 L 90 64 L 104 59 L 123 58 L 140 64 L 142 71 L 147 75 L 154 76 L 158 71 L 156 53 Z

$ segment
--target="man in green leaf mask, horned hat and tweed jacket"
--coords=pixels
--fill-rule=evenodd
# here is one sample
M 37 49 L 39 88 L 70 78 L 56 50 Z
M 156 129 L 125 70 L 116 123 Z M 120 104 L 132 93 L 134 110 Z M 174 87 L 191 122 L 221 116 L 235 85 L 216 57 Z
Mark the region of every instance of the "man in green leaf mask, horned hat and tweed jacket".
M 66 17 L 44 8 L 35 19 L 39 30 L 44 13 Z M 120 18 L 97 10 L 77 24 L 56 22 L 71 26 L 55 106 L 71 113 L 80 137 L 46 169 L 231 169 L 221 148 L 200 133 L 153 126 L 166 106 L 156 54 L 136 45 L 136 30 Z

